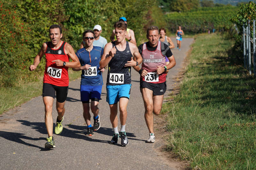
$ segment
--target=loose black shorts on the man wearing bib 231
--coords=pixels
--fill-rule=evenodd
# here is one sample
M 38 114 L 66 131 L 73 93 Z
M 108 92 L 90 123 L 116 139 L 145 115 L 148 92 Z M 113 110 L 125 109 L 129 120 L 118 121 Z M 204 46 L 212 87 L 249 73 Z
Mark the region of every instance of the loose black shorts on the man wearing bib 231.
M 147 88 L 153 91 L 153 96 L 163 95 L 166 91 L 166 81 L 164 83 L 148 83 L 140 80 L 140 92 L 142 88 Z

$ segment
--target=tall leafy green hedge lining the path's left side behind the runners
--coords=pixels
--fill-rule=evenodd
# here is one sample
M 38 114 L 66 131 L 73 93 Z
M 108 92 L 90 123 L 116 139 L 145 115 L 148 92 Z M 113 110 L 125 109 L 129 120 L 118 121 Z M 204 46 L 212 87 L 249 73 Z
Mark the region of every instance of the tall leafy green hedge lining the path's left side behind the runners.
M 62 40 L 75 51 L 79 49 L 84 30 L 96 24 L 102 27 L 101 36 L 110 41 L 114 23 L 124 16 L 138 45 L 146 39 L 148 26 L 165 24 L 162 11 L 153 0 L 0 0 L 0 14 L 0 87 L 34 81 L 38 74 L 42 75 L 44 60 L 36 73 L 29 72 L 28 66 L 42 44 L 50 40 L 52 24 L 62 26 Z

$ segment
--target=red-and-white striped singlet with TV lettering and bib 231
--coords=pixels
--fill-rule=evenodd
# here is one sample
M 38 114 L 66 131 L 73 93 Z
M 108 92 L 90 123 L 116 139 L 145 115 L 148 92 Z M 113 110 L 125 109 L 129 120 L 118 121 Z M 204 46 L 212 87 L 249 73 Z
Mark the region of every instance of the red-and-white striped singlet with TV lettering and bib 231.
M 158 41 L 155 51 L 149 51 L 146 47 L 146 42 L 143 44 L 141 53 L 143 62 L 141 69 L 148 71 L 147 76 L 141 76 L 140 79 L 149 83 L 163 83 L 165 82 L 166 74 L 163 72 L 158 75 L 156 72 L 157 66 L 165 66 L 165 56 L 161 52 L 161 42 Z

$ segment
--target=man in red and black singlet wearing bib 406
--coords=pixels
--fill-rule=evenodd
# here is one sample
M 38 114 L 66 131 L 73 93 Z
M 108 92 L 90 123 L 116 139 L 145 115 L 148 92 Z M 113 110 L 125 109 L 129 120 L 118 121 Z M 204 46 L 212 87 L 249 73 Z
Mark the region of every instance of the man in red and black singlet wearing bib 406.
M 51 41 L 43 43 L 41 50 L 36 55 L 33 65 L 29 70 L 33 71 L 45 54 L 46 64 L 44 71 L 43 101 L 45 106 L 45 126 L 48 133 L 45 148 L 55 148 L 52 137 L 53 120 L 52 106 L 56 92 L 56 109 L 58 112 L 55 133 L 60 134 L 63 129 L 63 115 L 65 113 L 65 101 L 68 94 L 68 67 L 80 67 L 79 60 L 70 44 L 61 41 L 62 31 L 59 25 L 52 25 L 49 29 Z M 69 57 L 74 62 L 69 62 Z

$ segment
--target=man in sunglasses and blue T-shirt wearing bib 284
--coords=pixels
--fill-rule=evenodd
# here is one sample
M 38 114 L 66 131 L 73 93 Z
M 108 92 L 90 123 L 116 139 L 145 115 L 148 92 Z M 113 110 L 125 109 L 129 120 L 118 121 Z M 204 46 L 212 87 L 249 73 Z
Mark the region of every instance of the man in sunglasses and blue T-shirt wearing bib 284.
M 94 32 L 86 30 L 83 33 L 83 40 L 85 42 L 84 48 L 79 49 L 76 55 L 82 65 L 80 68 L 73 68 L 74 71 L 82 70 L 80 95 L 83 103 L 83 115 L 87 124 L 86 136 L 93 136 L 93 130 L 100 128 L 100 117 L 98 104 L 100 101 L 101 89 L 103 85 L 102 74 L 105 68 L 100 69 L 100 58 L 103 54 L 103 48 L 93 46 Z M 91 124 L 90 105 L 93 113 L 93 126 Z

